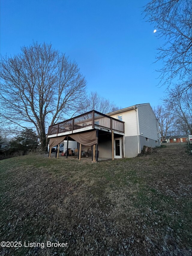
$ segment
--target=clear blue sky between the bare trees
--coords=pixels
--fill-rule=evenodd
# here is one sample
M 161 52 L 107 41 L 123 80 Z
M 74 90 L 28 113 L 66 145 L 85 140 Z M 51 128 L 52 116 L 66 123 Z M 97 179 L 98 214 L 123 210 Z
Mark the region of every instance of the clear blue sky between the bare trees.
M 161 103 L 155 69 L 162 43 L 143 20 L 149 0 L 1 0 L 1 54 L 19 53 L 33 41 L 74 59 L 97 91 L 119 107 Z

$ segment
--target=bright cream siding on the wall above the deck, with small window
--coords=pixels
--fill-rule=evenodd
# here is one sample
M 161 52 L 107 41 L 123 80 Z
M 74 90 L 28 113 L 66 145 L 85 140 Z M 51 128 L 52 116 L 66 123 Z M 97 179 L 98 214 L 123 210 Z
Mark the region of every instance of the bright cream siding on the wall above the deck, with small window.
M 125 122 L 125 136 L 137 135 L 137 112 L 133 109 L 110 116 L 117 119 L 120 115 L 122 115 L 122 121 Z

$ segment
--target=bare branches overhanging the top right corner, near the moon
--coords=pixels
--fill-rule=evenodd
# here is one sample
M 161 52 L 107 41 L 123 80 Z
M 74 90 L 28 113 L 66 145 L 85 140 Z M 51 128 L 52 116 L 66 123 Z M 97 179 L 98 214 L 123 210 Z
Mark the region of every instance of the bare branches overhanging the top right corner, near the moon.
M 188 90 L 192 84 L 192 1 L 152 0 L 144 8 L 147 21 L 165 41 L 156 56 L 163 62 L 160 83 L 169 88 L 176 78 L 181 92 Z

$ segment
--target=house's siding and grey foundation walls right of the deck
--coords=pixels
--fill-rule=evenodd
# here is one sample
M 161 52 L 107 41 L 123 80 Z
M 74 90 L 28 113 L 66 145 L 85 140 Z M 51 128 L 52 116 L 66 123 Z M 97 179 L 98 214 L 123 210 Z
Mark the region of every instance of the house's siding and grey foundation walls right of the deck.
M 136 105 L 135 109 L 110 116 L 117 118 L 119 115 L 122 115 L 122 121 L 125 122 L 126 158 L 137 156 L 143 146 L 156 147 L 161 145 L 159 123 L 150 104 Z

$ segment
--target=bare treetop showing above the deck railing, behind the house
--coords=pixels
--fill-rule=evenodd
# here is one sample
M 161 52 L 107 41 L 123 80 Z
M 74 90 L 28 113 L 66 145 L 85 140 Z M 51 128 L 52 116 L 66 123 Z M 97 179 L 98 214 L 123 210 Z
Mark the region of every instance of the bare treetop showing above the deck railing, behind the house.
M 79 112 L 88 112 L 91 110 L 97 110 L 101 113 L 109 113 L 119 108 L 111 102 L 109 99 L 106 99 L 99 95 L 97 92 L 90 92 L 87 95 L 83 102 L 79 105 Z

